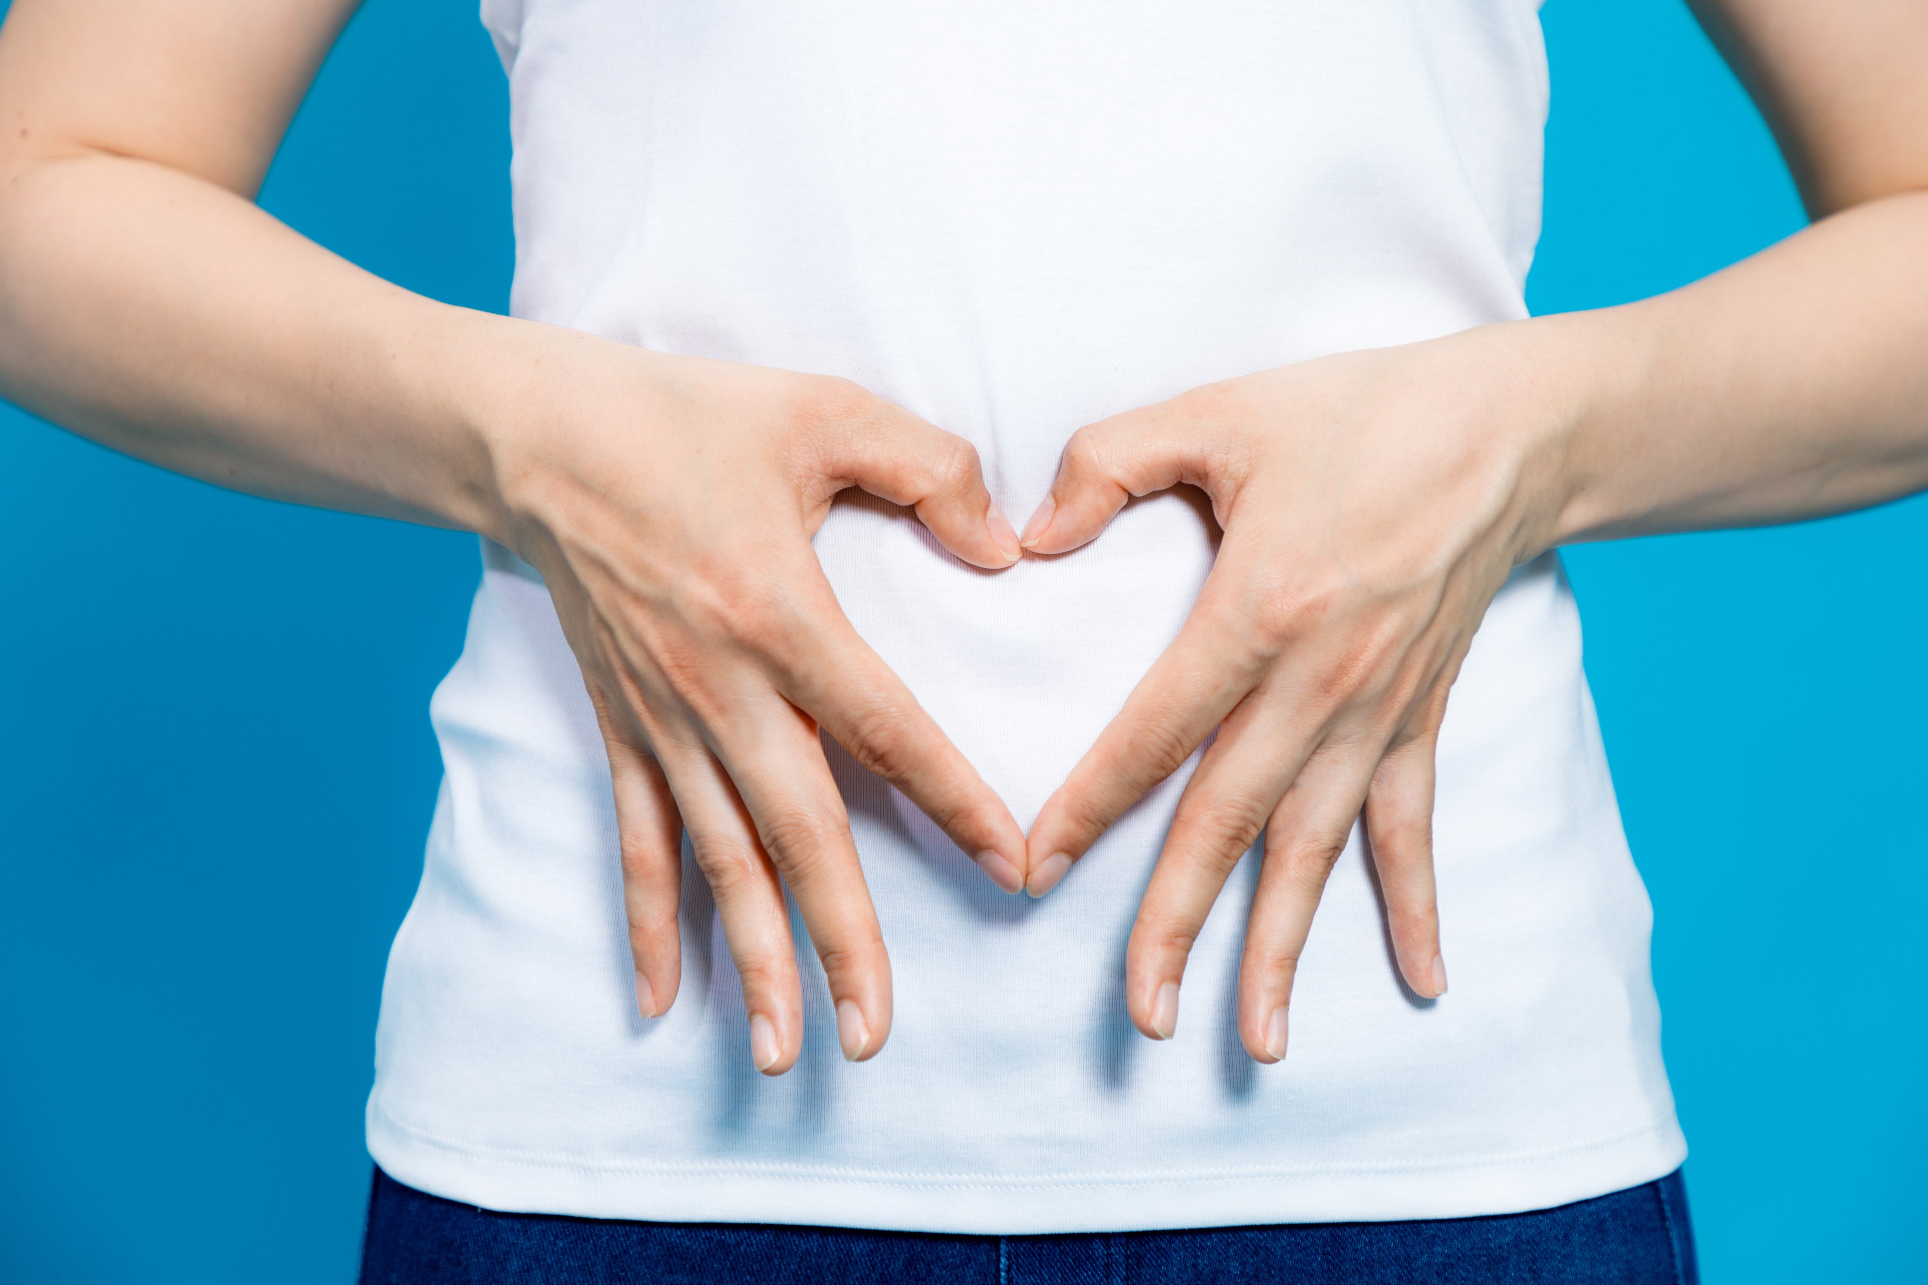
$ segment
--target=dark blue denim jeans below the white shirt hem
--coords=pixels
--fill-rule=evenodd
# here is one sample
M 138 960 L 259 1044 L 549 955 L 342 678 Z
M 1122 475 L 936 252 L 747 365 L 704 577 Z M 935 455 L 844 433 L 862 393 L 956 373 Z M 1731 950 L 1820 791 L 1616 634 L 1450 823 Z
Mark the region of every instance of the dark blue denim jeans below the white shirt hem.
M 1699 1285 L 1679 1171 L 1533 1214 L 958 1237 L 492 1214 L 374 1171 L 362 1285 Z

